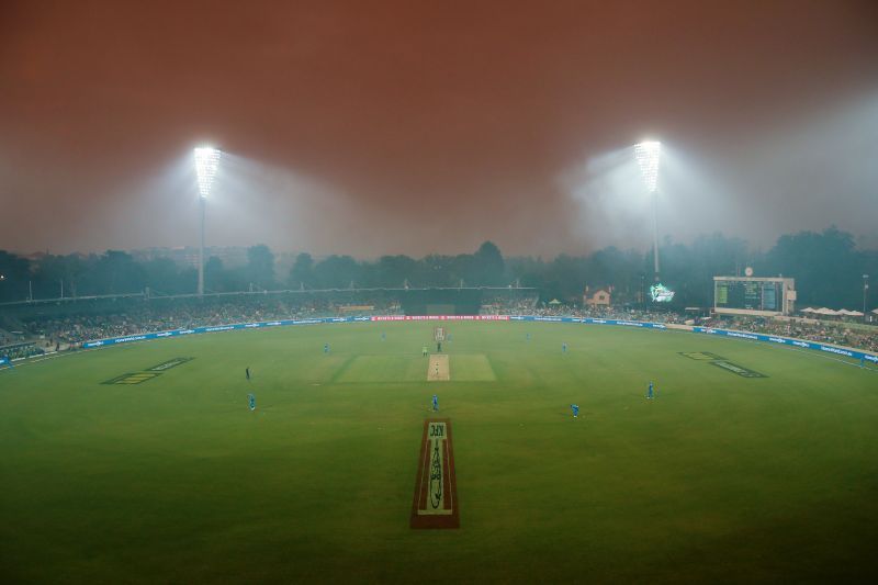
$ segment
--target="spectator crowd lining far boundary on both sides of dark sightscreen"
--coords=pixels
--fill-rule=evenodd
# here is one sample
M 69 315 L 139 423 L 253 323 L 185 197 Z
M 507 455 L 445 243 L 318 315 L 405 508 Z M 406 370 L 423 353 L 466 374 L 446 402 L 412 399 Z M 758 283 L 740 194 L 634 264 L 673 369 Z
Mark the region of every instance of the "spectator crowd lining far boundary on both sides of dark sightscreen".
M 855 328 L 848 324 L 813 319 L 696 317 L 672 311 L 640 307 L 585 306 L 540 303 L 536 296 L 488 297 L 483 315 L 572 316 L 665 324 L 703 325 L 724 329 L 777 335 L 836 346 L 878 351 L 878 327 Z M 402 315 L 398 303 L 386 299 L 338 302 L 319 297 L 241 295 L 211 300 L 138 301 L 83 314 L 31 315 L 19 323 L 33 345 L 16 344 L 5 355 L 27 357 L 43 351 L 80 347 L 82 342 L 150 331 L 266 320 L 339 317 L 350 315 Z M 8 346 L 13 348 L 13 346 Z

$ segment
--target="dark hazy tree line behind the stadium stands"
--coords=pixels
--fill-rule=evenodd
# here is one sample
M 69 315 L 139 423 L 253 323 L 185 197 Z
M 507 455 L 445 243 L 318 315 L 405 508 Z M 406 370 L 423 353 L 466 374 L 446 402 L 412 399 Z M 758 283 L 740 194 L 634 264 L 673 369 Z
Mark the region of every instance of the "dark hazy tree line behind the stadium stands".
M 860 250 L 851 234 L 835 227 L 821 233 L 780 236 L 767 251 L 722 234 L 705 235 L 691 244 L 666 239 L 660 246 L 663 282 L 676 291 L 677 306 L 710 306 L 712 277 L 792 277 L 799 306 L 862 308 L 864 274 L 878 280 L 878 250 Z M 205 290 L 236 292 L 279 289 L 526 286 L 542 301 L 579 303 L 586 286 L 612 286 L 616 302 L 638 303 L 652 283 L 652 251 L 607 247 L 584 256 L 562 254 L 552 259 L 504 257 L 485 241 L 473 254 L 382 256 L 357 260 L 351 256 L 315 259 L 300 254 L 288 273 L 278 273 L 273 252 L 264 245 L 247 250 L 247 262 L 225 267 L 217 257 L 205 263 Z M 189 294 L 198 272 L 168 258 L 138 261 L 127 252 L 46 255 L 36 260 L 0 250 L 0 302 L 61 296 Z M 877 303 L 869 300 L 869 308 Z

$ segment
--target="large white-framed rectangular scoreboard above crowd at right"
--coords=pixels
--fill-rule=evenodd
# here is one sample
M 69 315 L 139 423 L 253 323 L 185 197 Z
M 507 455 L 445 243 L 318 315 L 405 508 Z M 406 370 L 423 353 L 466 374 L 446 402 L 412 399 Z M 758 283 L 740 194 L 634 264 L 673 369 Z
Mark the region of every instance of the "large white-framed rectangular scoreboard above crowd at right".
M 713 277 L 717 313 L 788 314 L 795 300 L 793 279 Z

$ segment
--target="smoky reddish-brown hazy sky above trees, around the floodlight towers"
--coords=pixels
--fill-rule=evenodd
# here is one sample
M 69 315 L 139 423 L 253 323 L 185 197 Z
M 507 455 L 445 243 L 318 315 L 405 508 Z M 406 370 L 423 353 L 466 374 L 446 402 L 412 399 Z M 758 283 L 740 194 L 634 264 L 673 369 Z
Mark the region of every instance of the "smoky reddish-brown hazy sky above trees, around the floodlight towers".
M 0 2 L 0 249 L 878 245 L 878 2 Z

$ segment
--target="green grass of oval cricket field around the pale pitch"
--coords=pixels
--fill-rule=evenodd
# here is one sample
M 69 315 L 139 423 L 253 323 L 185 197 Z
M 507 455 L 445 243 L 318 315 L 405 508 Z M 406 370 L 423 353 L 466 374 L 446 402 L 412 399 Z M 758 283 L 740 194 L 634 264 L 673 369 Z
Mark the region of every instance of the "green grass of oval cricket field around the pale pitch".
M 223 333 L 0 372 L 0 582 L 878 571 L 874 369 L 689 333 L 453 323 L 450 380 L 429 381 L 432 326 Z M 409 528 L 434 394 L 457 530 Z

